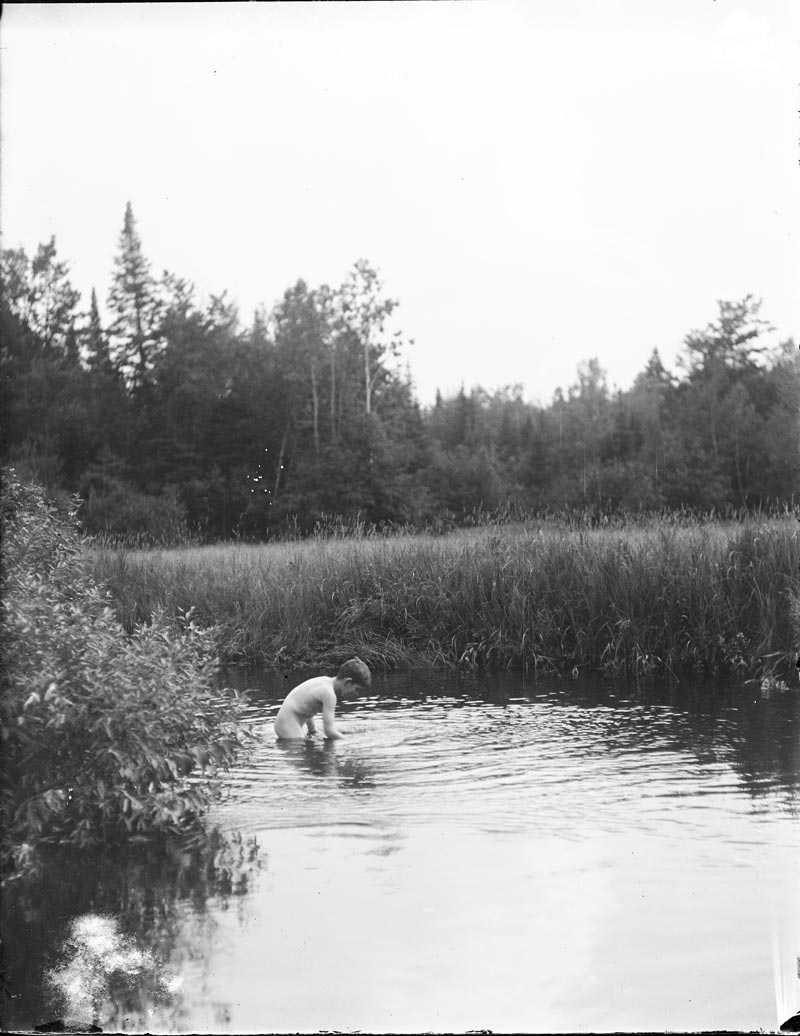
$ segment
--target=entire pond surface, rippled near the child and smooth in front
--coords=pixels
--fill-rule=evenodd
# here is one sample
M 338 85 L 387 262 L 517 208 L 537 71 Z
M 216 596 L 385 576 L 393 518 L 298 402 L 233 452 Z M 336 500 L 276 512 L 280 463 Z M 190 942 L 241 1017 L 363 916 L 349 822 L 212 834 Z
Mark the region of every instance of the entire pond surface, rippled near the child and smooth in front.
M 800 1008 L 800 692 L 387 675 L 215 852 L 63 856 L 5 904 L 6 1028 L 775 1030 Z M 13 897 L 12 897 L 13 898 Z

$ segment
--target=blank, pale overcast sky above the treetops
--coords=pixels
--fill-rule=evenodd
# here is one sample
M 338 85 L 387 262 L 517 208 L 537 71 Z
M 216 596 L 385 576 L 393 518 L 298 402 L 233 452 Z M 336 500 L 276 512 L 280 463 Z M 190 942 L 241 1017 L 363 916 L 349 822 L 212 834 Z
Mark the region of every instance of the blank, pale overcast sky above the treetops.
M 245 323 L 369 260 L 423 405 L 627 388 L 720 299 L 800 341 L 799 38 L 797 0 L 6 3 L 2 244 L 103 304 L 130 201 Z

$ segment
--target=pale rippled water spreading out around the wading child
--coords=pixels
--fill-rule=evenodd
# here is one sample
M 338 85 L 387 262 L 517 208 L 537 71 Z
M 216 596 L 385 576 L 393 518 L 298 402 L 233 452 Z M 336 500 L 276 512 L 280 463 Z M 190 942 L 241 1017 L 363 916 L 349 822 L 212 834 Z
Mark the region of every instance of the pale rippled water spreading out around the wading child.
M 698 739 L 685 713 L 565 700 L 371 696 L 342 710 L 341 741 L 276 742 L 276 702 L 254 708 L 257 735 L 232 770 L 223 811 L 240 829 L 284 825 L 455 823 L 479 831 L 653 832 L 702 836 L 708 814 L 767 814 L 796 782 L 732 765 L 728 742 Z M 724 721 L 718 724 L 726 732 Z M 780 812 L 781 809 L 778 809 Z M 785 811 L 784 809 L 782 811 Z

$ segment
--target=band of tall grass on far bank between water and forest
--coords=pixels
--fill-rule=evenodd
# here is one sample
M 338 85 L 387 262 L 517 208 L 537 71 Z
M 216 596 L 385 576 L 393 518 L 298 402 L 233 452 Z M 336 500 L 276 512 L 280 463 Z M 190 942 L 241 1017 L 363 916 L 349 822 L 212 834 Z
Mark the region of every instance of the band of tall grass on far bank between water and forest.
M 217 625 L 227 660 L 760 675 L 794 666 L 792 518 L 538 522 L 447 537 L 95 548 L 131 629 L 159 608 Z

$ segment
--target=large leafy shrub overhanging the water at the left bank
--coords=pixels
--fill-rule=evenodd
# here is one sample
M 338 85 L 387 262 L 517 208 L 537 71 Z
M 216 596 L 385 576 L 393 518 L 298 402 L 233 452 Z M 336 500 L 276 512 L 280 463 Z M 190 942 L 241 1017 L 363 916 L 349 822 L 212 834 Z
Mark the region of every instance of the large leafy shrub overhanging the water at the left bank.
M 210 634 L 156 614 L 127 635 L 83 571 L 75 512 L 13 471 L 0 517 L 3 862 L 42 839 L 184 832 L 245 735 Z

